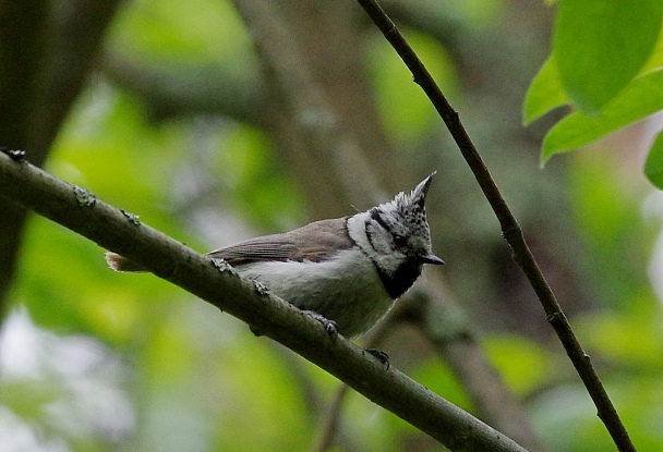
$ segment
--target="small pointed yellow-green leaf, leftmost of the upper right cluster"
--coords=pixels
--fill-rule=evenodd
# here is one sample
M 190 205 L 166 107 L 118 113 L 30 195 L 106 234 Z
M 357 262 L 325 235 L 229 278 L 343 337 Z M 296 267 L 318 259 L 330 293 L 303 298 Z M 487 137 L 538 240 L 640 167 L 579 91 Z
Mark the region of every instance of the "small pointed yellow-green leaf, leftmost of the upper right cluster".
M 522 106 L 522 122 L 531 124 L 549 111 L 569 102 L 562 82 L 555 54 L 551 54 L 532 80 Z

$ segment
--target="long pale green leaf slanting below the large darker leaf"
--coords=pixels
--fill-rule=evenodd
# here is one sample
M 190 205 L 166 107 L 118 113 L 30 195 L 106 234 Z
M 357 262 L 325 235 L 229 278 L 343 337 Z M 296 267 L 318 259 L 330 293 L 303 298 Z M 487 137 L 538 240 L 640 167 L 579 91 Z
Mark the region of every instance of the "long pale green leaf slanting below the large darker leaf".
M 588 145 L 663 109 L 663 71 L 634 80 L 600 115 L 576 112 L 551 129 L 543 141 L 542 163 L 554 154 Z

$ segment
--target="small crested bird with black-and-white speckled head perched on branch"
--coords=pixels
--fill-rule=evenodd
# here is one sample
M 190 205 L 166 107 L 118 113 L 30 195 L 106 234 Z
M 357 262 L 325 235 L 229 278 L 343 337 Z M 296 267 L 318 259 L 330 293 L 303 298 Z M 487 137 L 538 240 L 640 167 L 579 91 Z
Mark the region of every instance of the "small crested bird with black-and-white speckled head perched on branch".
M 425 210 L 434 174 L 369 210 L 250 239 L 206 256 L 224 259 L 328 331 L 359 337 L 414 284 L 425 264 L 444 264 L 432 252 Z M 146 271 L 112 252 L 106 260 L 116 271 Z

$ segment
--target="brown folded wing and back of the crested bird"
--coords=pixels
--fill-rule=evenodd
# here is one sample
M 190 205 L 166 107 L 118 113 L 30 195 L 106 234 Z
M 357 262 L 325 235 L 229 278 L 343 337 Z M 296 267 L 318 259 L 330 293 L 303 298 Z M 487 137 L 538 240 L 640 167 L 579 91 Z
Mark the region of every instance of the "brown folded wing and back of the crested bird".
M 222 258 L 230 265 L 258 260 L 311 260 L 328 259 L 340 249 L 352 247 L 353 242 L 346 229 L 346 218 L 316 221 L 282 234 L 263 235 L 217 249 L 207 255 Z

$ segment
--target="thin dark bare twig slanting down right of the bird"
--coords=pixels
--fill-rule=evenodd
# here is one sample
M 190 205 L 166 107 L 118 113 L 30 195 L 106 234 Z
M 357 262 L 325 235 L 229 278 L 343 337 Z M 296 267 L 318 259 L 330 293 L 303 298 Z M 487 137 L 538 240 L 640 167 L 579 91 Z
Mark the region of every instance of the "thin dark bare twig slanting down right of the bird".
M 543 277 L 534 256 L 525 241 L 520 224 L 518 224 L 518 221 L 507 206 L 485 163 L 477 151 L 474 144 L 460 123 L 458 112 L 450 106 L 419 57 L 417 57 L 405 37 L 400 34 L 396 24 L 387 16 L 377 2 L 375 0 L 358 0 L 358 2 L 371 16 L 375 25 L 377 25 L 406 65 L 410 69 L 414 83 L 425 91 L 451 133 L 460 152 L 472 170 L 474 178 L 477 178 L 495 216 L 499 220 L 502 235 L 511 247 L 514 260 L 522 269 L 534 289 L 534 292 L 539 296 L 545 310 L 547 321 L 555 329 L 566 353 L 580 375 L 584 387 L 596 406 L 598 415 L 601 420 L 603 420 L 613 441 L 619 451 L 635 451 L 636 448 L 632 444 L 624 424 L 619 419 L 617 411 L 605 392 L 605 389 L 590 362 L 589 355 L 584 353 L 582 346 L 578 342 L 559 303 L 557 303 L 551 286 Z

